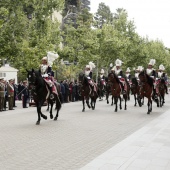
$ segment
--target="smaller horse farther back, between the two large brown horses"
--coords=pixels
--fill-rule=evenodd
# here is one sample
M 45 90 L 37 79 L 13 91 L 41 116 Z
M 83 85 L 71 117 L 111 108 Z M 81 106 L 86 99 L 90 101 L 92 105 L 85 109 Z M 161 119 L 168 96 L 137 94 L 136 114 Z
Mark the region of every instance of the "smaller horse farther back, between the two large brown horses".
M 138 104 L 139 106 L 141 107 L 143 104 L 144 104 L 144 98 L 142 100 L 142 102 L 140 103 L 140 86 L 139 86 L 139 82 L 138 80 L 134 77 L 132 78 L 132 81 L 131 81 L 131 86 L 130 86 L 130 90 L 131 90 L 131 93 L 133 94 L 134 96 L 134 99 L 135 99 L 135 105 L 137 105 L 137 101 L 138 101 Z

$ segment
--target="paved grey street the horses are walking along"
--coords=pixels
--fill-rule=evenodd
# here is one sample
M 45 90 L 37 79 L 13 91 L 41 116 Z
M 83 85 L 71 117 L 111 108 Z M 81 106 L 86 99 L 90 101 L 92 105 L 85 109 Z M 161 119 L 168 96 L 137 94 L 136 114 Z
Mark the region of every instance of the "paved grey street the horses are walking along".
M 111 101 L 111 100 L 110 100 Z M 23 109 L 17 102 L 13 111 L 0 113 L 0 169 L 2 170 L 78 170 L 130 134 L 159 117 L 170 108 L 170 95 L 165 105 L 147 114 L 147 99 L 143 107 L 127 102 L 127 110 L 114 112 L 106 100 L 97 101 L 96 109 L 82 103 L 63 104 L 57 121 L 48 116 L 35 125 L 35 107 Z M 111 103 L 111 102 L 110 102 Z M 53 111 L 53 115 L 55 110 Z

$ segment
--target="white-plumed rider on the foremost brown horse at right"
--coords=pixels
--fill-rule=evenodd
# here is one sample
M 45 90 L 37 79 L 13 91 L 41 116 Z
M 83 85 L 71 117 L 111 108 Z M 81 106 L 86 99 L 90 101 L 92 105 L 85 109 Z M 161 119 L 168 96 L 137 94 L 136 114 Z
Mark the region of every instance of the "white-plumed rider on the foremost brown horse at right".
M 154 93 L 154 96 L 156 95 L 156 83 L 155 83 L 156 71 L 153 68 L 155 63 L 156 63 L 155 59 L 150 59 L 150 62 L 148 63 L 148 68 L 146 69 L 146 74 L 153 79 L 153 93 Z

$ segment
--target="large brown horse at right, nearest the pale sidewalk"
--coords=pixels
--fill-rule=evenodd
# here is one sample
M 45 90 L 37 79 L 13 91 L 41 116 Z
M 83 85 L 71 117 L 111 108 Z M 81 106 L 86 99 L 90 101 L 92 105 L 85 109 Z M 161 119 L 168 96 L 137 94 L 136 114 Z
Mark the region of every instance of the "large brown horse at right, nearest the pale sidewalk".
M 141 83 L 139 94 L 140 99 L 143 97 L 148 98 L 148 112 L 150 114 L 152 112 L 152 92 L 153 92 L 153 79 L 146 74 L 146 71 L 142 71 L 139 73 L 139 80 Z M 141 105 L 141 100 L 139 101 Z

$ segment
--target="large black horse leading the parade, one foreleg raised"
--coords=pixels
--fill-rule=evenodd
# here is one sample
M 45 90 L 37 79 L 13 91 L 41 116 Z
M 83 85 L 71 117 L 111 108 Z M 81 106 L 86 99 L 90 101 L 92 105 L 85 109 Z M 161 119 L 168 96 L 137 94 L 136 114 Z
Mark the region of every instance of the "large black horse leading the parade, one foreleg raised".
M 59 110 L 61 109 L 61 102 L 59 96 L 54 94 L 54 99 L 50 99 L 48 85 L 46 84 L 45 80 L 41 76 L 40 70 L 34 70 L 34 69 L 32 69 L 31 71 L 27 70 L 27 77 L 29 82 L 29 89 L 31 90 L 31 94 L 33 96 L 34 102 L 37 107 L 38 120 L 36 124 L 37 125 L 40 124 L 41 117 L 47 119 L 47 116 L 41 112 L 41 107 L 43 106 L 46 100 L 49 102 L 51 106 L 50 109 L 51 119 L 53 118 L 52 109 L 53 109 L 54 100 L 56 101 L 57 113 L 54 120 L 57 120 Z

